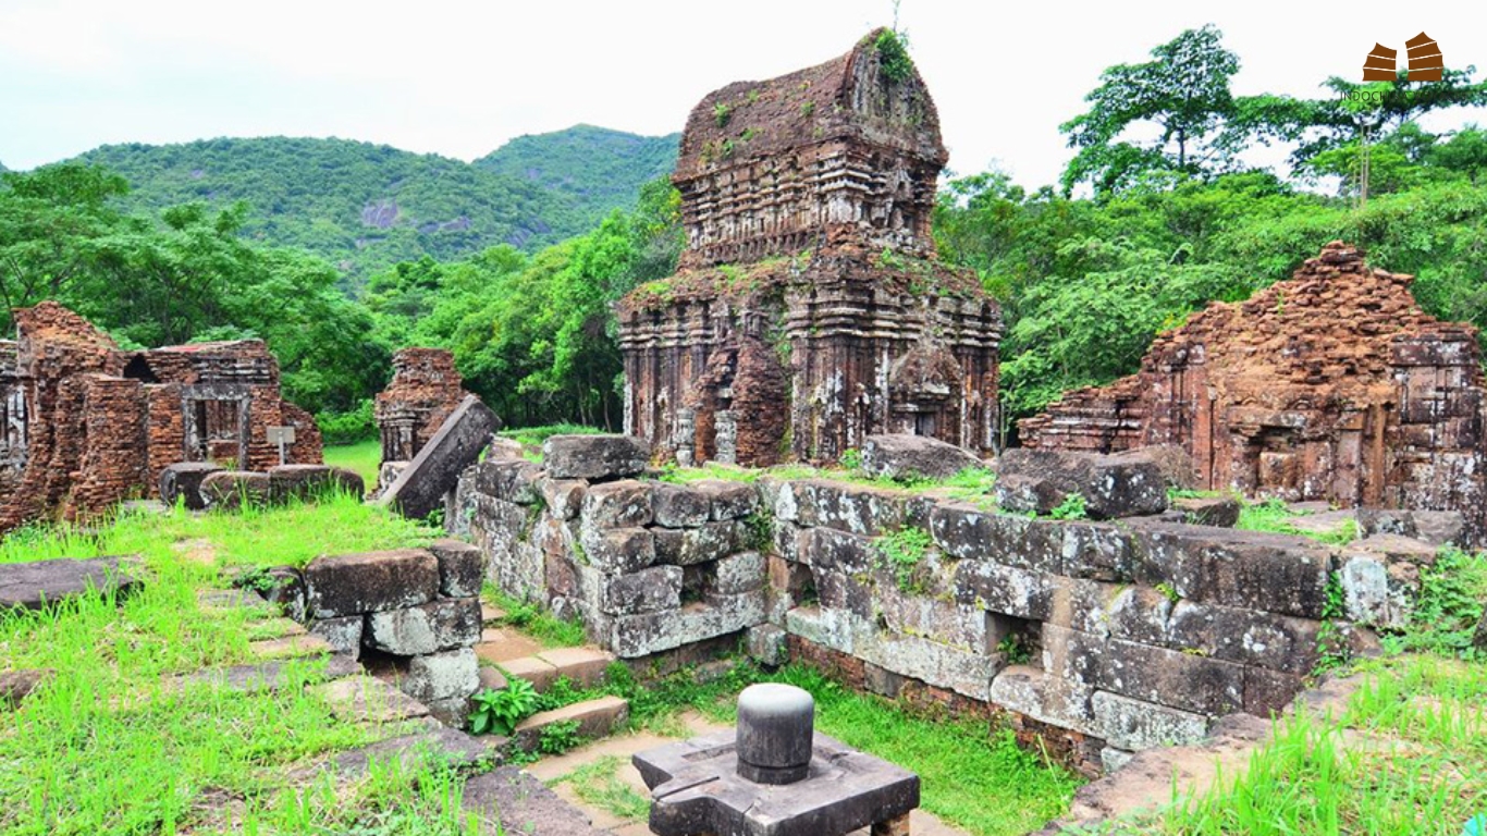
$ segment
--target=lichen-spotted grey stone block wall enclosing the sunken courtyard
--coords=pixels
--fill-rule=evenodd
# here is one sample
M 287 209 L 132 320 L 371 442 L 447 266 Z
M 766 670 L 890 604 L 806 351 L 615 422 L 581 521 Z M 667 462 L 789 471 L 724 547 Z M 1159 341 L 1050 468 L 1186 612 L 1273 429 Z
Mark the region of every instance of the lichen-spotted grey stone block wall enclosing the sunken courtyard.
M 622 657 L 746 643 L 769 663 L 834 659 L 882 693 L 1002 713 L 1088 772 L 1280 710 L 1319 660 L 1334 579 L 1334 641 L 1362 646 L 1352 622 L 1401 623 L 1433 561 L 1390 537 L 1030 519 L 819 479 L 662 483 L 632 478 L 644 458 L 587 478 L 489 460 L 451 519 L 507 594 L 581 617 Z M 877 538 L 906 528 L 932 544 L 888 565 Z

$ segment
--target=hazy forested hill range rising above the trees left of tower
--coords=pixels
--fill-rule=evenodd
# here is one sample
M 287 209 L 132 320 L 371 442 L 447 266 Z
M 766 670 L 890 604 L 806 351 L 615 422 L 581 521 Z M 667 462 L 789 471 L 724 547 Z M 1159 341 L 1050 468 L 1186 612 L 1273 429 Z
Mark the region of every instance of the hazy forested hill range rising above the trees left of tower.
M 633 208 L 639 184 L 669 171 L 675 158 L 675 138 L 586 126 L 516 143 L 480 165 L 370 143 L 286 137 L 103 146 L 79 159 L 129 183 L 117 199 L 125 211 L 247 201 L 242 235 L 309 250 L 360 283 L 422 256 L 556 244 L 614 208 Z M 590 156 L 593 173 L 577 171 Z

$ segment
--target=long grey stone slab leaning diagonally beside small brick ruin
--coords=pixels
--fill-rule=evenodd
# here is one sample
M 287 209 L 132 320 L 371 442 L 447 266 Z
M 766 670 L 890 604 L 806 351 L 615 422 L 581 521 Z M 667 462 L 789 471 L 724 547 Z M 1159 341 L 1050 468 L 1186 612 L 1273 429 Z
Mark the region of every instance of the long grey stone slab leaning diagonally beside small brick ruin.
M 378 503 L 410 519 L 428 516 L 443 506 L 445 494 L 455 489 L 459 473 L 479 461 L 480 451 L 500 428 L 501 421 L 479 397 L 465 396 Z

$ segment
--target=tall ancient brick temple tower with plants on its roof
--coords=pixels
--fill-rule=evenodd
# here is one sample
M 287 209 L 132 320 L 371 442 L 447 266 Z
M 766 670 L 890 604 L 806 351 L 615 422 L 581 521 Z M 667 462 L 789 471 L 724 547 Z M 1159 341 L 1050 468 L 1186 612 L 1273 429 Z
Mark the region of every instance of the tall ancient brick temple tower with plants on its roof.
M 693 109 L 677 275 L 620 302 L 626 431 L 683 464 L 834 461 L 868 433 L 989 451 L 1001 312 L 935 259 L 947 155 L 892 33 Z

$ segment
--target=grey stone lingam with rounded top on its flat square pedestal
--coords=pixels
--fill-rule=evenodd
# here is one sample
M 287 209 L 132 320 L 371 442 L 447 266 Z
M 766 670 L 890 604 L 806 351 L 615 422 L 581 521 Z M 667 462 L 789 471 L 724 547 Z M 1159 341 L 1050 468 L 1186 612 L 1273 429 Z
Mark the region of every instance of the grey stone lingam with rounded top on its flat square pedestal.
M 733 732 L 638 753 L 657 836 L 907 836 L 919 776 L 815 732 L 815 701 L 787 684 L 739 695 Z

